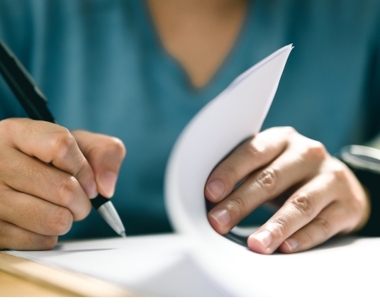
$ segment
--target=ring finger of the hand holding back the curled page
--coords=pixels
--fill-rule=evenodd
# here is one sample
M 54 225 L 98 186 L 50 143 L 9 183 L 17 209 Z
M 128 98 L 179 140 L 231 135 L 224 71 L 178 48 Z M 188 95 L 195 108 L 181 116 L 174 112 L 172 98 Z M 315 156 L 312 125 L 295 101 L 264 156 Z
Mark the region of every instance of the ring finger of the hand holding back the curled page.
M 321 174 L 298 189 L 267 223 L 248 238 L 254 252 L 271 254 L 286 238 L 308 224 L 337 199 L 339 186 L 333 174 Z

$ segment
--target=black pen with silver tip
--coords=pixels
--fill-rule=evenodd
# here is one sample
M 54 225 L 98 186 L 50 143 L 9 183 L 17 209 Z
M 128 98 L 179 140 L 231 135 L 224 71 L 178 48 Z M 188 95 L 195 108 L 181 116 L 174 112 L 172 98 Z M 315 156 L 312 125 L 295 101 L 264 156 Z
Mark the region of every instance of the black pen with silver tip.
M 20 60 L 12 50 L 0 39 L 0 72 L 13 94 L 25 109 L 31 119 L 57 123 L 47 108 L 47 99 Z M 121 222 L 113 203 L 100 194 L 90 200 L 92 206 L 113 230 L 125 235 L 125 228 Z

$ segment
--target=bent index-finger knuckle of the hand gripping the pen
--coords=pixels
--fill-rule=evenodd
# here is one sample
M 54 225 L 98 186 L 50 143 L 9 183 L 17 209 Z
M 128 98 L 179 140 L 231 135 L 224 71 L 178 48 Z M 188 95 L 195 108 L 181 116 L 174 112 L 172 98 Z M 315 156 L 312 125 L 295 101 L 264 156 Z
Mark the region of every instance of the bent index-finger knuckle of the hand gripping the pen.
M 67 128 L 60 127 L 52 133 L 49 150 L 55 158 L 62 159 L 75 145 L 77 141 L 74 136 Z

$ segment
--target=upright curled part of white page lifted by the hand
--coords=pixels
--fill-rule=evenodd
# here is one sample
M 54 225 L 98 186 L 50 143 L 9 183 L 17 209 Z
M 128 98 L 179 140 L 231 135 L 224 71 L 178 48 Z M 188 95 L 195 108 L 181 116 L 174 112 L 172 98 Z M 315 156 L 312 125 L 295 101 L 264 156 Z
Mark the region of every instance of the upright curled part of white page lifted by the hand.
M 215 238 L 206 218 L 206 180 L 236 145 L 259 133 L 292 48 L 277 50 L 241 74 L 179 136 L 165 177 L 167 211 L 179 233 Z

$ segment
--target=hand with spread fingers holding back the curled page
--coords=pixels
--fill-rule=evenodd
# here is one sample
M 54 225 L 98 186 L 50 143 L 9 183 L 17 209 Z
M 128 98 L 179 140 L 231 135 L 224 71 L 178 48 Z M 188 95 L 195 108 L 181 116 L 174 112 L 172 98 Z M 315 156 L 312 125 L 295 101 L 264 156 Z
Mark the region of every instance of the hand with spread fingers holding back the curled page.
M 218 203 L 208 221 L 220 234 L 262 203 L 285 200 L 248 238 L 250 249 L 261 254 L 308 250 L 369 218 L 369 201 L 350 169 L 289 127 L 264 130 L 238 146 L 211 172 L 205 196 Z

